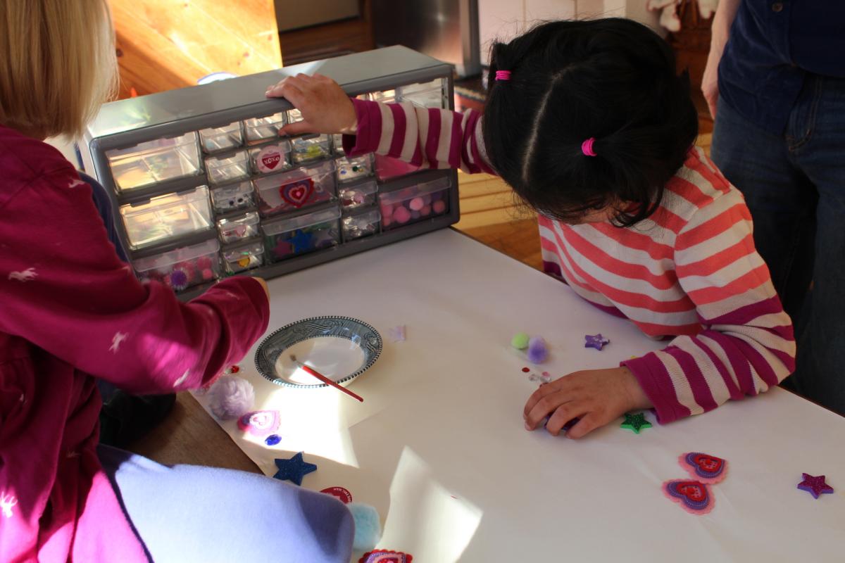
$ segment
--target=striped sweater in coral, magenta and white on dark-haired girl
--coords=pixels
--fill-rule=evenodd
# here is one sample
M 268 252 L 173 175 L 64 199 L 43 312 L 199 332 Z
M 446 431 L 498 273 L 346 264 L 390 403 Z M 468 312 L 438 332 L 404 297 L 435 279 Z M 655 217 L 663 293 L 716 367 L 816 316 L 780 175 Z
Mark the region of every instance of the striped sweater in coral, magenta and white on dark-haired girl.
M 480 114 L 352 100 L 346 154 L 494 174 Z M 756 252 L 742 194 L 690 149 L 649 219 L 566 225 L 538 219 L 544 269 L 668 346 L 622 362 L 662 423 L 755 395 L 792 373 L 793 327 Z

